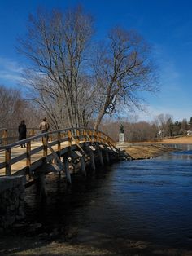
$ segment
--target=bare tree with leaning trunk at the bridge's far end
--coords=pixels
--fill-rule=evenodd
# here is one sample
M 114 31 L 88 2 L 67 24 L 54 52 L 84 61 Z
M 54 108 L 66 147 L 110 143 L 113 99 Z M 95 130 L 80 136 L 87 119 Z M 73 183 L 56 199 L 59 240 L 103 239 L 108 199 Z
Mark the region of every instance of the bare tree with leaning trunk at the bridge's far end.
M 137 92 L 155 91 L 155 76 L 149 57 L 149 47 L 133 31 L 112 29 L 107 46 L 97 52 L 94 76 L 98 86 L 98 129 L 103 116 L 112 114 L 118 105 L 133 104 L 141 108 Z

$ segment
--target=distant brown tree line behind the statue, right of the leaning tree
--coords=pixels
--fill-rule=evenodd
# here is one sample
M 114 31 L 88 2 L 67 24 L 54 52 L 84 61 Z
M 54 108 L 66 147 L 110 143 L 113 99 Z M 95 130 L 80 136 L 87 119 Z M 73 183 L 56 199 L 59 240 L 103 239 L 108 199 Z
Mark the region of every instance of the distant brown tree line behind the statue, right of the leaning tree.
M 174 136 L 187 135 L 188 130 L 192 130 L 192 117 L 189 120 L 183 118 L 182 121 L 173 121 L 169 114 L 159 114 L 153 121 L 121 121 L 124 127 L 124 139 L 127 142 L 157 141 L 159 139 Z M 120 121 L 103 121 L 102 130 L 118 141 L 120 131 Z

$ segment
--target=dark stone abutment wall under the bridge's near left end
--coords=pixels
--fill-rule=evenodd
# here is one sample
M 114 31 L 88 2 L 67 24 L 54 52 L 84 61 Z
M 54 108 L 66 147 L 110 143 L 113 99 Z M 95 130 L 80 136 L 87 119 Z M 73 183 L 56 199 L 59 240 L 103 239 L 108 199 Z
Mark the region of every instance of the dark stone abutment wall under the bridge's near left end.
M 24 176 L 0 177 L 0 228 L 24 218 Z

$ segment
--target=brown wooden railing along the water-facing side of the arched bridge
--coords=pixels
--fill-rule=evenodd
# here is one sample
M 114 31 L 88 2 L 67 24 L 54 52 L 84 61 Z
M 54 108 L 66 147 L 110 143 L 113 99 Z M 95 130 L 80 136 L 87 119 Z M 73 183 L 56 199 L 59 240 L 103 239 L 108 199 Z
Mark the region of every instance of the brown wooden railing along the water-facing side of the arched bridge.
M 53 130 L 50 132 L 43 133 L 41 135 L 35 135 L 27 139 L 17 141 L 15 143 L 0 146 L 0 153 L 4 154 L 4 161 L 1 161 L 0 159 L 0 171 L 2 168 L 4 168 L 5 174 L 11 175 L 11 166 L 16 162 L 22 161 L 24 159 L 26 159 L 25 166 L 28 167 L 30 170 L 30 166 L 32 165 L 32 156 L 34 154 L 37 154 L 37 152 L 42 151 L 40 158 L 47 157 L 47 138 L 49 138 L 49 135 L 52 135 L 51 142 L 49 142 L 49 148 L 52 145 L 57 145 L 58 152 L 62 150 L 61 143 L 63 142 L 68 142 L 66 146 L 70 148 L 75 143 L 77 148 L 80 148 L 82 152 L 83 149 L 80 146 L 81 142 L 89 142 L 92 144 L 103 143 L 111 148 L 116 147 L 116 143 L 110 137 L 108 137 L 106 134 L 99 130 L 85 128 L 66 128 L 63 130 Z M 41 145 L 38 145 L 37 148 L 32 149 L 33 141 L 38 141 L 41 143 Z M 27 145 L 25 153 L 24 149 L 20 152 L 20 156 L 17 155 L 15 157 L 14 154 L 11 154 L 14 148 L 19 148 L 20 144 L 24 143 Z M 33 145 L 35 145 L 35 143 L 33 143 Z

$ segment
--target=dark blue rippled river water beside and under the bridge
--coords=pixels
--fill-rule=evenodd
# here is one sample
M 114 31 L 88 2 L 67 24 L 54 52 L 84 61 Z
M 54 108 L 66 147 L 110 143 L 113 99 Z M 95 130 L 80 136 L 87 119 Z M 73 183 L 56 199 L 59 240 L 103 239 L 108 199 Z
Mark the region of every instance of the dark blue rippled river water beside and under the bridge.
M 74 175 L 72 188 L 62 179 L 47 180 L 46 207 L 36 214 L 33 209 L 33 218 L 51 228 L 70 224 L 81 231 L 79 236 L 86 231 L 192 249 L 191 147 L 120 161 L 87 179 Z

